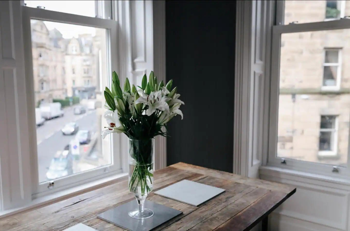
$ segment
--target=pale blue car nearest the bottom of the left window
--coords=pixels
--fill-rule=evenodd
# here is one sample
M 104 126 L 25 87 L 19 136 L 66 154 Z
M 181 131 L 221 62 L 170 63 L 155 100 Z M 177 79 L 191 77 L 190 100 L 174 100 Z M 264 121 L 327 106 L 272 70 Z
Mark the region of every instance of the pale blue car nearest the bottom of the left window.
M 69 150 L 57 151 L 52 158 L 46 178 L 53 180 L 73 174 L 73 156 Z

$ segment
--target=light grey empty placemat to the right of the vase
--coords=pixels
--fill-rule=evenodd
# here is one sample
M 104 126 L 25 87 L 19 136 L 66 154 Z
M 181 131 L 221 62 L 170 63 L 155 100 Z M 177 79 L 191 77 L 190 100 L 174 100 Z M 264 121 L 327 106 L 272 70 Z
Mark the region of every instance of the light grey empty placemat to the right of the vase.
M 225 192 L 225 189 L 191 180 L 181 180 L 168 187 L 155 191 L 154 193 L 176 201 L 198 206 L 223 192 Z

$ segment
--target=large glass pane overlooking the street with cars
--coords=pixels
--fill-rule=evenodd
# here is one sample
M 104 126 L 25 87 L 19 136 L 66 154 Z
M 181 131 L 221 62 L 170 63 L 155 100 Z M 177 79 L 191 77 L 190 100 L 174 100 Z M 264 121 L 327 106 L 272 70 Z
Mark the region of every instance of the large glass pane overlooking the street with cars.
M 109 139 L 100 135 L 106 32 L 31 20 L 40 182 L 112 163 Z

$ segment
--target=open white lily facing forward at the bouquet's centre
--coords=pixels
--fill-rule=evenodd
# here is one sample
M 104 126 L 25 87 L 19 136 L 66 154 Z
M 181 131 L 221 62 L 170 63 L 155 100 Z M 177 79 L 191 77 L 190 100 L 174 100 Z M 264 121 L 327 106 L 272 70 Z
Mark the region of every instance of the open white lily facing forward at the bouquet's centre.
M 138 98 L 135 104 L 143 103 L 148 105 L 147 115 L 152 115 L 157 109 L 160 111 L 165 111 L 166 113 L 170 113 L 169 105 L 167 101 L 170 98 L 162 94 L 162 91 L 151 92 L 151 94 L 147 95 L 143 91 L 140 91 L 140 98 Z

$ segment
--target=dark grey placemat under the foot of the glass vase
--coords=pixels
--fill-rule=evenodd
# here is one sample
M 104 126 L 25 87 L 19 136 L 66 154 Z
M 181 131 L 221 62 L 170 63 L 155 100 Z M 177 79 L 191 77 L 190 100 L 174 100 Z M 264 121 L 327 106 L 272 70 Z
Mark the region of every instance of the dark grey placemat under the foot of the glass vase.
M 152 209 L 154 215 L 146 219 L 130 217 L 128 214 L 129 211 L 137 207 L 136 200 L 132 200 L 116 208 L 105 211 L 97 215 L 97 217 L 130 231 L 149 231 L 182 214 L 179 210 L 146 200 L 145 208 Z

